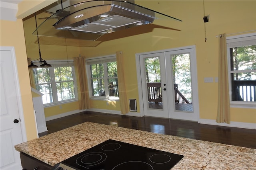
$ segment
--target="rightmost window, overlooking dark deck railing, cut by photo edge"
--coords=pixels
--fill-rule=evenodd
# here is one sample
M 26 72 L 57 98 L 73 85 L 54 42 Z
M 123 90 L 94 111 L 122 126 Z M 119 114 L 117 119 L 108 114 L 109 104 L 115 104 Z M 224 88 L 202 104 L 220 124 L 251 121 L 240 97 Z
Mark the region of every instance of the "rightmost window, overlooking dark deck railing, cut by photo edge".
M 252 104 L 256 102 L 256 35 L 228 37 L 227 48 L 231 104 Z

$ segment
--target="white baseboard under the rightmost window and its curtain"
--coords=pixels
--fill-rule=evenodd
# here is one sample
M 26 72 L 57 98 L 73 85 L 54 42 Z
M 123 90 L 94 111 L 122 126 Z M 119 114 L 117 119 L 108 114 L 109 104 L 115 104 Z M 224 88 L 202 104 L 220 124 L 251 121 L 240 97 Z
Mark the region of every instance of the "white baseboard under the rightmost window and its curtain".
M 239 127 L 245 129 L 256 129 L 256 123 L 244 123 L 244 122 L 237 122 L 231 121 L 230 124 L 227 123 L 217 123 L 215 120 L 212 119 L 199 119 L 198 123 L 208 124 L 208 125 L 217 125 L 217 126 L 226 126 L 226 127 Z

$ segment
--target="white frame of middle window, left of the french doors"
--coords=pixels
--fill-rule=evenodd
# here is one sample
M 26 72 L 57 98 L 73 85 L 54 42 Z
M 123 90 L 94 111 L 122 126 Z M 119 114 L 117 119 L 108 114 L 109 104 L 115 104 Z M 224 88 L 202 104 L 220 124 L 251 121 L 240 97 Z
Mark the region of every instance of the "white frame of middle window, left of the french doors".
M 114 97 L 114 96 L 109 96 L 109 90 L 108 90 L 108 79 L 111 77 L 108 77 L 108 69 L 107 69 L 107 64 L 109 62 L 116 61 L 116 55 L 106 55 L 106 56 L 101 56 L 101 57 L 92 57 L 92 58 L 87 58 L 86 59 L 86 74 L 87 74 L 87 80 L 88 80 L 88 89 L 89 89 L 89 96 L 90 99 L 94 100 L 115 100 L 118 101 L 119 97 Z M 117 61 L 116 61 L 117 62 Z M 105 94 L 106 96 L 93 96 L 92 95 L 92 85 L 91 85 L 91 69 L 90 65 L 91 64 L 96 64 L 96 63 L 102 63 L 104 64 L 104 88 L 105 88 Z M 105 76 L 107 75 L 107 76 Z M 118 76 L 117 76 L 118 79 Z

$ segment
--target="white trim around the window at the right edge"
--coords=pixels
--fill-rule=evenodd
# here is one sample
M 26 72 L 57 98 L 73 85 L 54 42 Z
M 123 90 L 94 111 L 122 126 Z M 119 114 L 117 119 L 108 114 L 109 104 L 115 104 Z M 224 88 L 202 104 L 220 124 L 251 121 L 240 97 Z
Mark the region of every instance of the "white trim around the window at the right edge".
M 228 86 L 229 86 L 229 98 L 230 98 L 230 107 L 236 108 L 249 108 L 255 109 L 256 102 L 240 102 L 240 101 L 232 101 L 232 87 L 231 87 L 231 77 L 230 74 L 236 71 L 231 71 L 230 66 L 230 51 L 229 48 L 241 44 L 241 41 L 251 41 L 256 43 L 256 33 L 248 33 L 243 35 L 236 35 L 226 37 L 227 42 L 227 57 L 228 57 Z M 249 72 L 254 72 L 256 70 L 249 70 Z M 244 70 L 242 72 L 248 72 L 248 70 Z

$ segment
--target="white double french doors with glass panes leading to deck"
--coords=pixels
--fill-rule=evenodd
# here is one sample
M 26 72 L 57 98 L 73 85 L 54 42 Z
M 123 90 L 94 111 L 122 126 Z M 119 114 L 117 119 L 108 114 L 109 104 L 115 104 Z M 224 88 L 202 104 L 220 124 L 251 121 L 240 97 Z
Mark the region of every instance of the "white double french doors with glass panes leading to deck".
M 138 55 L 146 116 L 197 121 L 195 47 Z

